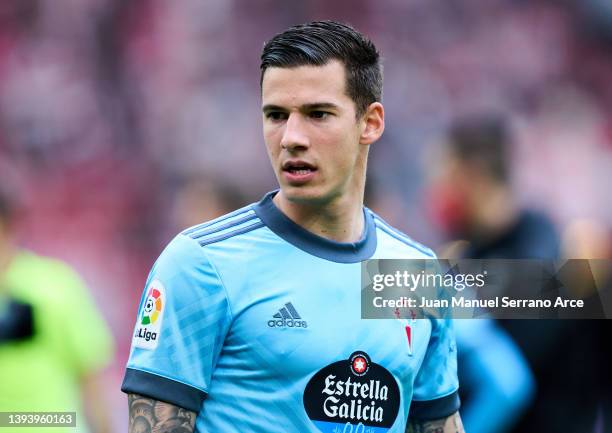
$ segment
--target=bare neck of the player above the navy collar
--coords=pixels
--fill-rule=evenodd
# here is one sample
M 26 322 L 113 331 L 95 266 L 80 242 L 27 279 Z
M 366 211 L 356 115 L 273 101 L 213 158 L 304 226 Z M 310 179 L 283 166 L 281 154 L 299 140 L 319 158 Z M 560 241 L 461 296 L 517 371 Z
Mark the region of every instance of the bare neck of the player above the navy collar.
M 292 202 L 282 190 L 273 199 L 289 219 L 311 233 L 336 242 L 357 242 L 364 230 L 363 193 L 326 203 Z

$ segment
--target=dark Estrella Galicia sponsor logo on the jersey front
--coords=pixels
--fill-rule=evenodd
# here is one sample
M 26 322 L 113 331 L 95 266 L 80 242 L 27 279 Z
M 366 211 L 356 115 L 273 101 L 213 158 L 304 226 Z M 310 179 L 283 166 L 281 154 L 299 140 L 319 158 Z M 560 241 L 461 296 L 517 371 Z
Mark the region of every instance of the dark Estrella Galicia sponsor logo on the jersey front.
M 399 412 L 393 375 L 365 352 L 319 370 L 304 390 L 304 409 L 322 433 L 385 433 Z

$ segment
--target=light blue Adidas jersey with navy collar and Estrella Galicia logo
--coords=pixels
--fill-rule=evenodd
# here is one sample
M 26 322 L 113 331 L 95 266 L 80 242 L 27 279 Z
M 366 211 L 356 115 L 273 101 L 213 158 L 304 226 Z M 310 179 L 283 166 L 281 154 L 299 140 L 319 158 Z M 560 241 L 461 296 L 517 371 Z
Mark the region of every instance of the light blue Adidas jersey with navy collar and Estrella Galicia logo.
M 179 234 L 155 263 L 122 389 L 206 433 L 404 432 L 459 409 L 452 324 L 361 319 L 360 262 L 433 253 L 364 209 L 356 243 L 262 201 Z

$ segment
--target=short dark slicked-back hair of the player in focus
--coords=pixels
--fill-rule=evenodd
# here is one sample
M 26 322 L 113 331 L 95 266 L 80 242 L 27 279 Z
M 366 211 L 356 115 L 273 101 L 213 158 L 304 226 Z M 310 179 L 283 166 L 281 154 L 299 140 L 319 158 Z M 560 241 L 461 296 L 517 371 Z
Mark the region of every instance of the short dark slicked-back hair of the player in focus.
M 367 37 L 347 24 L 314 21 L 277 34 L 264 44 L 261 77 L 269 67 L 322 66 L 339 60 L 346 70 L 346 93 L 355 102 L 357 117 L 382 100 L 380 54 Z

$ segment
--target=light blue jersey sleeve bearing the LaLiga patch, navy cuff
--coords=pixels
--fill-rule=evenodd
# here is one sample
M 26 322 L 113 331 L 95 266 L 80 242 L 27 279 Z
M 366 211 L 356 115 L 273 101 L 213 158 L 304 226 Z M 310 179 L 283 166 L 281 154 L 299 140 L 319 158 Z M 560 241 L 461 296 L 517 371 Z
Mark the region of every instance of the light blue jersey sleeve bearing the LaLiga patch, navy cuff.
M 147 279 L 122 391 L 198 413 L 230 324 L 213 264 L 197 242 L 178 235 Z

